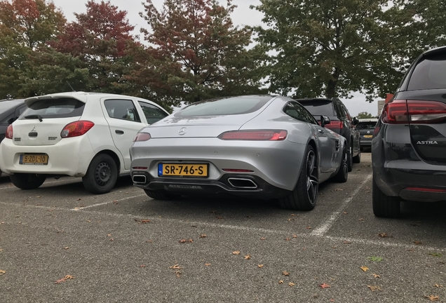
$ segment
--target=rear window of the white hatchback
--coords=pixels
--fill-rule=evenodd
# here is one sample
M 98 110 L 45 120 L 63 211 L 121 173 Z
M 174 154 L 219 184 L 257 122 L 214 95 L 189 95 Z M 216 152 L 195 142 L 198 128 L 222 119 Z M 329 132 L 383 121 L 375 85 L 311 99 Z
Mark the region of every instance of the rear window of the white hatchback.
M 85 103 L 72 98 L 37 100 L 19 119 L 36 119 L 37 115 L 47 119 L 82 116 L 84 106 Z

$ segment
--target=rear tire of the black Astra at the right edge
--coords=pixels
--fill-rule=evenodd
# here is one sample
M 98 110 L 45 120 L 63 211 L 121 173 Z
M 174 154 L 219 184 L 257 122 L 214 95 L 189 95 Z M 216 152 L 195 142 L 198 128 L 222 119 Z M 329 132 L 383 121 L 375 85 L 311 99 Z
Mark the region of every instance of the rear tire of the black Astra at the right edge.
M 373 213 L 377 217 L 398 217 L 400 215 L 400 197 L 387 196 L 379 189 L 374 178 L 372 181 Z

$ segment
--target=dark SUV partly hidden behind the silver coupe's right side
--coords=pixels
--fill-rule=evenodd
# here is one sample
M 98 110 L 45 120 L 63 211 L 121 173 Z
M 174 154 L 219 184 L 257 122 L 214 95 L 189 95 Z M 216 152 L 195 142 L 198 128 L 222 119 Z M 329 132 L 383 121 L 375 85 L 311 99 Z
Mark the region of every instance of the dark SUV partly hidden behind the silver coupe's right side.
M 320 116 L 328 116 L 330 123 L 325 125 L 325 128 L 329 128 L 347 139 L 347 149 L 349 149 L 347 163 L 349 171 L 351 171 L 353 163 L 361 161 L 360 135 L 355 127 L 359 120 L 356 117 L 351 118 L 349 110 L 338 98 L 298 99 L 297 101 L 304 105 L 319 123 Z

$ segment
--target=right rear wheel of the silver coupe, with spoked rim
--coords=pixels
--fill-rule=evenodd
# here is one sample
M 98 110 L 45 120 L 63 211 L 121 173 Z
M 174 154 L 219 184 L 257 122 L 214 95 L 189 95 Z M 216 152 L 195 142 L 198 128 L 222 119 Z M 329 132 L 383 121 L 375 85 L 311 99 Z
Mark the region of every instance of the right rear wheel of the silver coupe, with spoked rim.
M 306 147 L 304 163 L 295 189 L 279 199 L 281 208 L 288 210 L 312 210 L 318 198 L 318 157 L 311 145 Z

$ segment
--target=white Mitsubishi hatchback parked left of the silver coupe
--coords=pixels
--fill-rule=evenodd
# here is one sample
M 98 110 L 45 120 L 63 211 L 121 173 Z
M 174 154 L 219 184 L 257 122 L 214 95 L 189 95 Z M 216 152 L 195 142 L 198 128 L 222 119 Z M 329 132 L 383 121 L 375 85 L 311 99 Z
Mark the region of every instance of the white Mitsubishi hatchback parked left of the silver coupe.
M 56 93 L 25 103 L 0 144 L 1 170 L 20 189 L 40 187 L 48 176 L 74 176 L 93 194 L 107 193 L 130 173 L 138 130 L 168 116 L 149 100 L 106 93 Z

